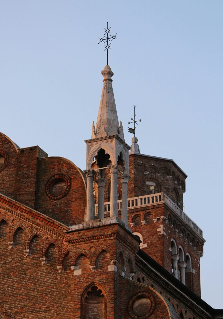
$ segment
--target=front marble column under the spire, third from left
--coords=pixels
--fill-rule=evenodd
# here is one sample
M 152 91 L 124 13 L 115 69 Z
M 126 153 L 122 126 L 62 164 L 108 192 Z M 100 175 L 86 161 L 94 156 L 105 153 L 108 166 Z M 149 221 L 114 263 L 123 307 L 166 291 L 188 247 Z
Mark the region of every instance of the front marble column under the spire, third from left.
M 110 165 L 111 173 L 111 208 L 110 217 L 118 217 L 118 165 Z

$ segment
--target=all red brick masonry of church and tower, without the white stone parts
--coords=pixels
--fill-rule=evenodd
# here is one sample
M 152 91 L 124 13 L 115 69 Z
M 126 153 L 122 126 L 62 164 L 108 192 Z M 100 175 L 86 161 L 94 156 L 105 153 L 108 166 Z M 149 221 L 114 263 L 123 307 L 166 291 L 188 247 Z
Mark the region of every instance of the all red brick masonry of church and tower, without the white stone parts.
M 8 154 L 0 167 L 0 318 L 222 318 L 199 298 L 204 241 L 166 204 L 129 210 L 129 226 L 147 244 L 139 249 L 119 219 L 84 222 L 85 178 L 73 163 L 48 158 L 38 146 L 19 149 L 3 134 L 0 149 Z M 155 174 L 166 163 L 185 189 L 186 176 L 173 162 L 145 157 L 140 166 L 140 159 L 130 156 L 136 172 L 130 170 L 129 197 L 142 195 L 140 188 L 147 193 L 151 161 Z M 178 184 L 160 176 L 153 180 L 173 198 Z M 191 256 L 186 286 L 171 274 L 171 239 Z

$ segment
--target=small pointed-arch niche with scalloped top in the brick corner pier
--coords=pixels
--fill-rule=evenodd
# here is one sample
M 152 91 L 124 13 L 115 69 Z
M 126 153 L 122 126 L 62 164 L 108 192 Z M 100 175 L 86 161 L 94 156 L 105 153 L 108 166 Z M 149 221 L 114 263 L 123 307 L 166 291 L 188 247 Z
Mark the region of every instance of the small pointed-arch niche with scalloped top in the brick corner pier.
M 99 285 L 93 283 L 82 295 L 82 319 L 105 319 L 107 313 L 107 298 Z

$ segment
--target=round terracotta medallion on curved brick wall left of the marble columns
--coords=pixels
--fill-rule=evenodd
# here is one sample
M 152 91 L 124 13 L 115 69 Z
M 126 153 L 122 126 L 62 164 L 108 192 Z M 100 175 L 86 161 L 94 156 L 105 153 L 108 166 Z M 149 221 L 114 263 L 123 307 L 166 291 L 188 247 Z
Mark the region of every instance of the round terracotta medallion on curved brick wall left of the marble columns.
M 57 200 L 67 195 L 71 181 L 66 174 L 55 174 L 48 179 L 45 187 L 48 198 Z

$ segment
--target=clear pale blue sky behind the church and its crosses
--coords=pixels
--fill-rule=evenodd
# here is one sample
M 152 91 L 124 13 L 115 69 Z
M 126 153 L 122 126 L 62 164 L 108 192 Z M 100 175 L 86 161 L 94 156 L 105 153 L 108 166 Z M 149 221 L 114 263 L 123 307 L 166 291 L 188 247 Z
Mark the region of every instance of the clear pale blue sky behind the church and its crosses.
M 106 21 L 119 121 L 137 105 L 140 151 L 188 174 L 203 229 L 202 298 L 222 308 L 223 1 L 0 1 L 0 131 L 85 168 L 102 89 Z

